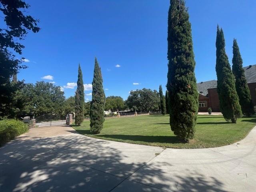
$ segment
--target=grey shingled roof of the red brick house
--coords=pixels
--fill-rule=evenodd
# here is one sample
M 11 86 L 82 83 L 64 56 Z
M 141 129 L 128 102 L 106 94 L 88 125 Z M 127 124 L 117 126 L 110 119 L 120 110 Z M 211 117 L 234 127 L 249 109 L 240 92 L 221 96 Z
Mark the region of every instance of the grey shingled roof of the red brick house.
M 244 74 L 247 80 L 247 83 L 255 83 L 256 82 L 256 65 L 250 65 L 244 68 Z M 208 89 L 217 88 L 217 81 L 211 80 L 211 81 L 205 81 L 205 82 L 199 82 L 197 84 L 197 90 L 198 92 L 204 96 L 208 96 Z

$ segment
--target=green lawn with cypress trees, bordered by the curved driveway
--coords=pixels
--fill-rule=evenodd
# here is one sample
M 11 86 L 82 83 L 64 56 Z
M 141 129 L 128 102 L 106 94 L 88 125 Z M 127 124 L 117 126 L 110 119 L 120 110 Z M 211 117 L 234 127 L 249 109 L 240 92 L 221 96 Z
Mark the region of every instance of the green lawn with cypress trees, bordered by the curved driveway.
M 173 134 L 168 115 L 108 118 L 100 134 L 96 135 L 90 134 L 89 120 L 73 128 L 86 136 L 105 140 L 166 148 L 209 148 L 242 140 L 254 126 L 256 116 L 240 118 L 236 124 L 231 124 L 222 116 L 199 115 L 195 138 L 190 142 L 182 142 Z

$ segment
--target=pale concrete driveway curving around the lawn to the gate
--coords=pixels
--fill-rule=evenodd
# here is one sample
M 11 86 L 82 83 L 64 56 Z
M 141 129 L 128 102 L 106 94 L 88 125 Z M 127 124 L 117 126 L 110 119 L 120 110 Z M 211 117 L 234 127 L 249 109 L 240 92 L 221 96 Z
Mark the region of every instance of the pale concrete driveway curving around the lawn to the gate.
M 35 128 L 0 148 L 1 192 L 255 190 L 256 127 L 236 144 L 208 149 L 106 141 L 68 126 Z

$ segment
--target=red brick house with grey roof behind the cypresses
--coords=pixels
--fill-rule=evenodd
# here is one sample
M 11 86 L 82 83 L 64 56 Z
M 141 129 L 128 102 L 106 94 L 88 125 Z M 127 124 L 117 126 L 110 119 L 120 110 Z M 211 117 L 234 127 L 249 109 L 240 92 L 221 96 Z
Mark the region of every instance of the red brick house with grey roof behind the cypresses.
M 252 103 L 256 106 L 256 65 L 244 67 L 245 77 L 252 97 Z M 199 112 L 220 112 L 220 103 L 217 93 L 217 81 L 205 81 L 197 84 L 199 92 Z

